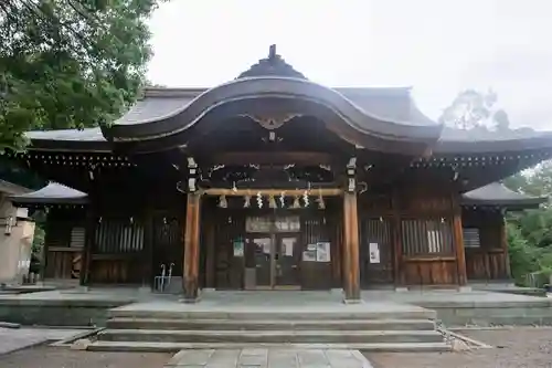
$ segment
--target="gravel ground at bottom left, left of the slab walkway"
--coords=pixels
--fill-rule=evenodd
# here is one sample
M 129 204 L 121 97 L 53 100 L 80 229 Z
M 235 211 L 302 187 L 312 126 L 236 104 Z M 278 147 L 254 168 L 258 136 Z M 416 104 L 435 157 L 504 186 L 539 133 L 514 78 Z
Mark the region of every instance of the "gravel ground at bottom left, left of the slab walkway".
M 0 356 L 1 368 L 162 368 L 172 354 L 96 353 L 38 346 Z

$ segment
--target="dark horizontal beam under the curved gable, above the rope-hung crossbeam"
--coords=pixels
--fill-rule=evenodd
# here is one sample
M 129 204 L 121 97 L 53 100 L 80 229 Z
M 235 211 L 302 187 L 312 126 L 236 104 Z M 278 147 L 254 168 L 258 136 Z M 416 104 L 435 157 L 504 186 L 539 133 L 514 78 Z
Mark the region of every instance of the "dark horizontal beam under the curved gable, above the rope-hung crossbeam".
M 311 151 L 235 151 L 212 155 L 209 161 L 215 165 L 331 165 L 336 162 L 336 156 Z

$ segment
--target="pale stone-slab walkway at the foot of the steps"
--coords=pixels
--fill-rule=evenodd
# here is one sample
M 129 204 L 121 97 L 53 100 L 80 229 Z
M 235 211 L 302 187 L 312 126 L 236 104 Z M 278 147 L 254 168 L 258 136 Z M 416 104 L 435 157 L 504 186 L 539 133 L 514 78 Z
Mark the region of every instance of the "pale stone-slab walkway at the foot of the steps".
M 359 350 L 181 350 L 166 368 L 372 368 Z

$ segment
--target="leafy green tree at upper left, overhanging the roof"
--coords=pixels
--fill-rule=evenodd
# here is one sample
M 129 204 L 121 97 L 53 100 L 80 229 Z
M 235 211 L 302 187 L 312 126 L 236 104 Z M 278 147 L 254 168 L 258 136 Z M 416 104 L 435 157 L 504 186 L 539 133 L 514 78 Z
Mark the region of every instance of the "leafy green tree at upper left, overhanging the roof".
M 159 1 L 0 1 L 0 148 L 118 117 L 142 84 Z

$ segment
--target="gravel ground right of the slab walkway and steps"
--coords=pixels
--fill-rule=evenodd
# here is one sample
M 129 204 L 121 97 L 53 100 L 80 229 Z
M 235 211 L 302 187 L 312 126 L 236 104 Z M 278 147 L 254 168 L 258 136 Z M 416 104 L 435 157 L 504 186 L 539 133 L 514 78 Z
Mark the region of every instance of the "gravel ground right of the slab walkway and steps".
M 457 332 L 497 348 L 459 353 L 367 353 L 374 368 L 552 367 L 552 328 Z

